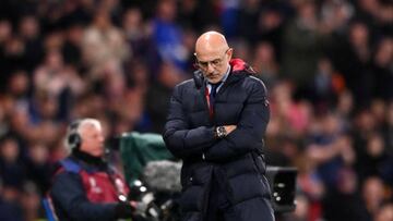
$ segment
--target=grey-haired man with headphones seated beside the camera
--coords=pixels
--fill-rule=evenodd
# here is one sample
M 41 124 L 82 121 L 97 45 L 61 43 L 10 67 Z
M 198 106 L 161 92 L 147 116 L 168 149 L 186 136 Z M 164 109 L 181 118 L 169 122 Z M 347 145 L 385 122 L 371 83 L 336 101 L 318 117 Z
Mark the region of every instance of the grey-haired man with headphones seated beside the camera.
M 98 120 L 71 123 L 67 136 L 71 155 L 59 162 L 49 192 L 58 220 L 111 221 L 132 217 L 136 202 L 127 201 L 129 188 L 123 177 L 103 160 L 104 139 Z

